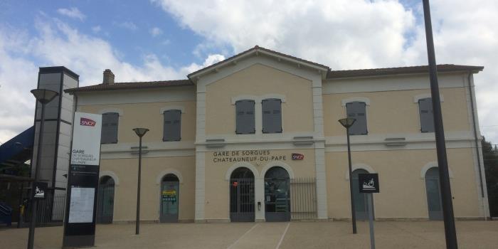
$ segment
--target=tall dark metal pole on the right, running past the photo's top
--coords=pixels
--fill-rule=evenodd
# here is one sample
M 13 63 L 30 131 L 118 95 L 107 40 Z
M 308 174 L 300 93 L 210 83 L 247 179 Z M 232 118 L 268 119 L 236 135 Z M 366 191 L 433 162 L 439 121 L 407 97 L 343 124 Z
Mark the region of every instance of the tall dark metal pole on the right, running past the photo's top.
M 441 197 L 443 203 L 443 217 L 445 221 L 446 248 L 458 248 L 457 233 L 455 229 L 455 217 L 453 215 L 453 203 L 451 196 L 450 177 L 448 174 L 445 133 L 443 129 L 443 116 L 438 85 L 438 68 L 435 62 L 435 51 L 433 41 L 433 28 L 430 22 L 429 0 L 423 0 L 423 11 L 425 21 L 425 39 L 427 41 L 427 54 L 430 69 L 430 92 L 433 101 L 433 115 L 435 128 L 436 149 L 438 152 L 438 169 L 441 186 Z

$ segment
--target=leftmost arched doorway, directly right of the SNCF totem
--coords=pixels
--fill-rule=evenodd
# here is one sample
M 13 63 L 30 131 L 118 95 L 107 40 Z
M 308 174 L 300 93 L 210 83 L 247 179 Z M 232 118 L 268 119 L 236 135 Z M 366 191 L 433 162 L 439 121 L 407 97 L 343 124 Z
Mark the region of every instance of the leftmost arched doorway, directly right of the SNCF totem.
M 112 223 L 114 213 L 114 179 L 102 176 L 97 192 L 97 223 Z

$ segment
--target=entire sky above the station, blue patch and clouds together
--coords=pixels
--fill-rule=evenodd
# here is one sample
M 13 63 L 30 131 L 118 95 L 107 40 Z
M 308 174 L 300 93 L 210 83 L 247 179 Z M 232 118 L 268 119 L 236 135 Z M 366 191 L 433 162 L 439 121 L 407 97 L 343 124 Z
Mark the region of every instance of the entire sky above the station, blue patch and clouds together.
M 498 143 L 498 1 L 431 0 L 438 63 L 475 76 L 482 133 Z M 38 67 L 80 85 L 171 80 L 255 45 L 333 70 L 426 65 L 421 0 L 0 1 L 0 142 L 33 123 Z M 496 125 L 496 126 L 495 126 Z

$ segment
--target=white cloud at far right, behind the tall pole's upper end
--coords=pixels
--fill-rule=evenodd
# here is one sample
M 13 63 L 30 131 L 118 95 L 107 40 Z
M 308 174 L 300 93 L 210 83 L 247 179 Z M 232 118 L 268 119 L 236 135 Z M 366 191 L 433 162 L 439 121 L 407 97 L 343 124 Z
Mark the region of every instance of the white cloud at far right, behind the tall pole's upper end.
M 498 2 L 465 0 L 431 1 L 436 60 L 438 63 L 484 65 L 475 75 L 481 133 L 498 143 Z M 407 63 L 427 64 L 423 23 L 417 27 Z

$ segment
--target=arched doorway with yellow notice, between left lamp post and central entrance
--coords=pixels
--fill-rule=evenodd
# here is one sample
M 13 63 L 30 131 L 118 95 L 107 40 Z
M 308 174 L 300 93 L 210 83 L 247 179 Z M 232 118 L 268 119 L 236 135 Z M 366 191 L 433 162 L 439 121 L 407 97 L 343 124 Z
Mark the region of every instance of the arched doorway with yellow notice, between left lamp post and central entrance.
M 178 222 L 180 181 L 174 174 L 166 174 L 161 179 L 161 210 L 159 221 Z

